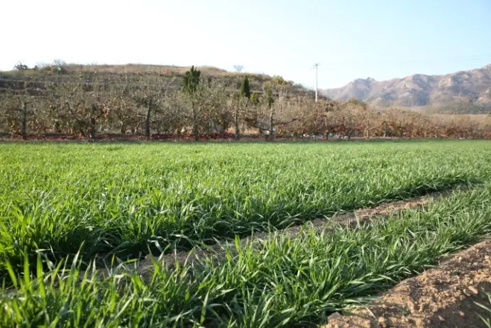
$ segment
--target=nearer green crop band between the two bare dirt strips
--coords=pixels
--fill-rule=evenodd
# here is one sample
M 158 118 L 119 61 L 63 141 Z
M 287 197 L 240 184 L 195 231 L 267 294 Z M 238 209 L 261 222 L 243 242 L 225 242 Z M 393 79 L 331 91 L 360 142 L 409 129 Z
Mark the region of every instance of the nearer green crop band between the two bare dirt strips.
M 175 271 L 155 263 L 145 281 L 131 271 L 80 279 L 79 261 L 67 272 L 14 281 L 0 294 L 0 324 L 81 324 L 104 327 L 306 327 L 333 311 L 361 304 L 436 264 L 438 258 L 491 232 L 491 184 L 392 213 L 355 230 L 337 227 L 299 237 L 275 234 L 260 244 L 225 247 L 221 261 L 203 259 Z M 39 258 L 40 259 L 40 258 Z M 87 273 L 88 272 L 88 273 Z M 126 272 L 126 273 L 125 273 Z

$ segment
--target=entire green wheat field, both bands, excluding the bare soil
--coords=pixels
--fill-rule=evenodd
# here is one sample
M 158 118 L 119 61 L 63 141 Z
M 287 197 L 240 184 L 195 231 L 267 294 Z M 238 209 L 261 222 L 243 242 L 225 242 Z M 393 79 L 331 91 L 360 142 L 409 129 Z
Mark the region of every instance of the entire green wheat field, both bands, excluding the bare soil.
M 0 144 L 0 326 L 315 327 L 488 237 L 490 178 L 487 141 Z M 134 269 L 234 239 L 220 261 Z

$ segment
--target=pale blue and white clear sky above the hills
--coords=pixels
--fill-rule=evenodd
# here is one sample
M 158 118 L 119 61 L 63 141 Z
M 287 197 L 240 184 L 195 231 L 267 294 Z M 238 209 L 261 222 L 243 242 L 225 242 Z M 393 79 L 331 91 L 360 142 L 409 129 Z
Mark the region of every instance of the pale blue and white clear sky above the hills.
M 491 0 L 4 0 L 0 70 L 209 65 L 314 87 L 491 63 Z

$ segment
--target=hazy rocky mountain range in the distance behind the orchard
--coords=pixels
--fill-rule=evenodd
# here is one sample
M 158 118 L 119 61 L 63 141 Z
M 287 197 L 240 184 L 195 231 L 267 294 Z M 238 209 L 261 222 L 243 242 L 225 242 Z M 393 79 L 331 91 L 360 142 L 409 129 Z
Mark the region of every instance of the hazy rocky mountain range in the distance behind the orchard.
M 491 64 L 447 75 L 415 74 L 402 79 L 355 79 L 338 89 L 321 90 L 336 101 L 356 98 L 374 107 L 491 104 Z

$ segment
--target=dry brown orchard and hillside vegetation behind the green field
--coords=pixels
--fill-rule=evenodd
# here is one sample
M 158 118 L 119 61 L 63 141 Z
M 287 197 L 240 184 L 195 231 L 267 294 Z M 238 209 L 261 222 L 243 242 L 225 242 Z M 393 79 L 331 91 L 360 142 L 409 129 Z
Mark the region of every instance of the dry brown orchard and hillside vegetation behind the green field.
M 199 67 L 199 88 L 182 91 L 188 67 L 45 65 L 0 74 L 0 131 L 11 137 L 108 134 L 194 140 L 248 135 L 294 138 L 491 138 L 491 115 L 385 109 L 321 98 L 263 74 Z M 250 98 L 239 89 L 245 75 Z

